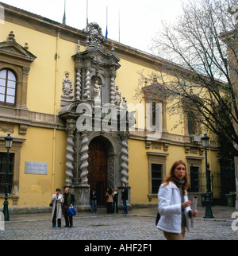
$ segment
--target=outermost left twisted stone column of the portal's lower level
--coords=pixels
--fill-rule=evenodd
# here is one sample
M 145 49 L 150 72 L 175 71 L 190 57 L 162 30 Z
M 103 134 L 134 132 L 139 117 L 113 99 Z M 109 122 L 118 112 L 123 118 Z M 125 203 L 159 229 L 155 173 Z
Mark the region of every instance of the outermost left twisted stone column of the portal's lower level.
M 67 133 L 68 133 L 68 138 L 67 138 L 67 154 L 66 154 L 66 185 L 69 186 L 72 184 L 72 179 L 73 179 L 73 170 L 74 170 L 74 131 L 75 131 L 75 124 L 67 124 Z

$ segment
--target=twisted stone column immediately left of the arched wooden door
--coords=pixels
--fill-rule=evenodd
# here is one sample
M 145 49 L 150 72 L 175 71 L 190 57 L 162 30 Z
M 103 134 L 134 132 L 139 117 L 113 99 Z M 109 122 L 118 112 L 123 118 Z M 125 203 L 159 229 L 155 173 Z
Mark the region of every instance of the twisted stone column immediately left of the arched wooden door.
M 81 178 L 81 186 L 89 186 L 87 184 L 87 175 L 88 175 L 88 170 L 87 170 L 87 167 L 88 167 L 88 138 L 87 138 L 87 134 L 86 133 L 83 133 L 82 134 L 82 142 L 81 142 L 81 150 L 80 150 L 80 153 L 81 153 L 81 158 L 80 158 L 80 162 L 81 162 L 81 165 L 80 165 L 80 170 L 81 170 L 81 175 L 80 175 L 80 178 Z

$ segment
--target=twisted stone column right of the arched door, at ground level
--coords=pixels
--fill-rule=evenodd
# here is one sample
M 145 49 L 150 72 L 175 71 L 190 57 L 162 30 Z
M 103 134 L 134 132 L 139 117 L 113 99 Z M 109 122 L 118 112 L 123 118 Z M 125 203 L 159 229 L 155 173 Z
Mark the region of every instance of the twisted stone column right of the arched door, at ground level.
M 128 136 L 123 135 L 122 136 L 122 142 L 121 142 L 121 183 L 128 184 L 129 179 L 129 146 L 128 146 Z

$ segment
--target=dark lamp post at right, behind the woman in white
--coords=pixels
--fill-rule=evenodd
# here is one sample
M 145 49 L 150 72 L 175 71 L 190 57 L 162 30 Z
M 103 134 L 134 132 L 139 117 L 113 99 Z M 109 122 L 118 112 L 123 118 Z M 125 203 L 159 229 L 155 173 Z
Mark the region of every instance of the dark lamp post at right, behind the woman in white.
M 206 194 L 205 194 L 205 219 L 211 219 L 213 217 L 213 211 L 211 208 L 211 176 L 207 163 L 207 151 L 209 147 L 209 137 L 204 134 L 202 137 L 202 146 L 205 148 L 205 175 L 206 175 Z

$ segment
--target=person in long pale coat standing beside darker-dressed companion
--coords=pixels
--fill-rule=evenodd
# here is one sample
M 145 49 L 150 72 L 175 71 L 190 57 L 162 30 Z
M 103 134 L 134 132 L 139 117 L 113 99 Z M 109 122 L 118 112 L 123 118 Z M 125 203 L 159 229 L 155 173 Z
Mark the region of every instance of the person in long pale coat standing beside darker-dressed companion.
M 52 227 L 61 227 L 63 195 L 60 194 L 60 189 L 56 188 L 55 194 L 52 196 Z

